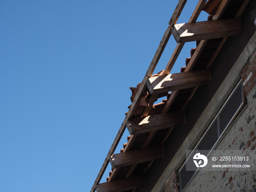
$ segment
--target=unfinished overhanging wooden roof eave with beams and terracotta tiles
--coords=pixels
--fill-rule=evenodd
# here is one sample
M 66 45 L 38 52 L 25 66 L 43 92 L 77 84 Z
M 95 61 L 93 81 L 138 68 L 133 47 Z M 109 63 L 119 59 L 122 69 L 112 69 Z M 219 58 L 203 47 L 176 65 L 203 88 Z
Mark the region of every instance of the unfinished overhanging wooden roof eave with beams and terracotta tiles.
M 184 59 L 185 66 L 181 68 L 181 73 L 169 74 L 185 42 L 194 41 L 192 37 L 189 37 L 189 34 L 186 35 L 184 32 L 179 34 L 179 29 L 184 25 L 178 25 L 176 22 L 186 0 L 178 2 L 143 81 L 137 87 L 130 87 L 132 90 L 132 104 L 129 106 L 126 117 L 99 171 L 91 192 L 95 190 L 101 192 L 134 192 L 136 187 L 143 186 L 151 163 L 156 158 L 161 158 L 164 155 L 163 144 L 167 137 L 172 134 L 173 127 L 185 123 L 184 110 L 197 87 L 207 85 L 210 82 L 209 68 L 227 37 L 240 33 L 239 17 L 248 2 L 249 0 L 208 0 L 206 3 L 206 0 L 199 0 L 186 24 L 188 29 L 193 30 L 199 24 L 201 26 L 206 25 L 207 29 L 211 29 L 210 24 L 211 26 L 216 25 L 218 28 L 219 26 L 226 26 L 225 22 L 227 21 L 228 23 L 235 23 L 231 26 L 234 30 L 219 30 L 218 36 L 216 31 L 203 30 L 201 33 L 197 32 L 198 28 L 195 28 L 195 33 L 199 34 L 196 37 L 198 39 L 196 48 L 191 49 L 191 57 Z M 204 23 L 196 22 L 202 10 L 210 16 Z M 215 36 L 212 34 L 213 32 Z M 171 34 L 177 35 L 177 46 L 166 68 L 153 75 Z M 182 36 L 184 34 L 185 36 Z M 162 102 L 154 104 L 158 98 L 162 97 L 166 98 Z M 131 136 L 127 137 L 128 142 L 123 145 L 124 148 L 120 150 L 120 154 L 113 154 L 126 128 L 128 128 Z M 109 172 L 109 177 L 106 178 L 107 182 L 99 184 L 109 162 L 112 165 L 112 171 Z

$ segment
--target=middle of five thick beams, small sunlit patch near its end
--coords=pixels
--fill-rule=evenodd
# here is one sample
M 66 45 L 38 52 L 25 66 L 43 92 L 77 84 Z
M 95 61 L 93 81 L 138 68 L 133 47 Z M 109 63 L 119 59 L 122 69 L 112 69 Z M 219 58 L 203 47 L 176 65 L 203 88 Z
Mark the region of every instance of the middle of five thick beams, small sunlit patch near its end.
M 175 111 L 130 119 L 127 128 L 130 134 L 139 134 L 174 127 L 185 121 L 184 111 Z

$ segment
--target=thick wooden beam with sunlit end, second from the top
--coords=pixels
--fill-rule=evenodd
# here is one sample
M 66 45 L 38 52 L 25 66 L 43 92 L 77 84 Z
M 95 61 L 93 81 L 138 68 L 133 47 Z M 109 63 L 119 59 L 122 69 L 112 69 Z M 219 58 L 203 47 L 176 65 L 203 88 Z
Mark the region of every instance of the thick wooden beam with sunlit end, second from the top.
M 188 89 L 209 84 L 211 74 L 209 69 L 162 75 L 149 78 L 147 86 L 151 94 L 174 90 Z

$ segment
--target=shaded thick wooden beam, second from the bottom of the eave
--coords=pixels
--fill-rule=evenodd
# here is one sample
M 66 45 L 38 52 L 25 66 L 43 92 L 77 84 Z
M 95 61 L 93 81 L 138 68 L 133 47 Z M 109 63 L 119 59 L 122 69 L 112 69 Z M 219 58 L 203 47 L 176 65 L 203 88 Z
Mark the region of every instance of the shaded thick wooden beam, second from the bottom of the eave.
M 164 154 L 163 146 L 157 145 L 138 150 L 117 153 L 109 158 L 113 169 L 125 167 L 133 164 L 144 163 L 154 159 L 162 158 Z

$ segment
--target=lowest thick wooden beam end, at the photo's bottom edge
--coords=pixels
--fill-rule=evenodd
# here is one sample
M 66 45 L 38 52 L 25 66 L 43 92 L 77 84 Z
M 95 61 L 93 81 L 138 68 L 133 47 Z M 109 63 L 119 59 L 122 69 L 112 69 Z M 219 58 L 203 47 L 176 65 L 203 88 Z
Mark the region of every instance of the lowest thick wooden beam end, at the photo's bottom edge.
M 146 174 L 103 182 L 96 186 L 97 192 L 120 192 L 142 187 L 147 183 Z

